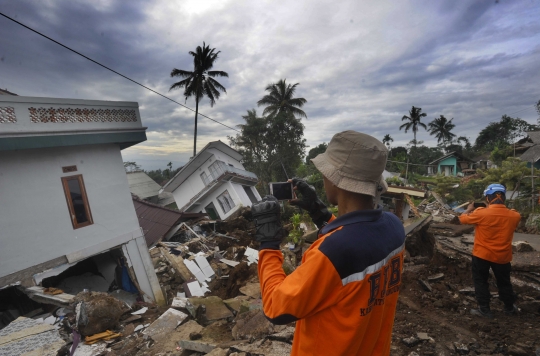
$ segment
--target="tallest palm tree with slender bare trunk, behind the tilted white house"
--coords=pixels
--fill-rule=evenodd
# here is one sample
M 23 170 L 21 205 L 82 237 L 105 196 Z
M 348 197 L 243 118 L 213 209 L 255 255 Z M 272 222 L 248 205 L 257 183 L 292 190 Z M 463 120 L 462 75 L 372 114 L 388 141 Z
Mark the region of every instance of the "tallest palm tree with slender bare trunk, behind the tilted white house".
M 210 70 L 214 66 L 214 62 L 218 59 L 221 51 L 215 52 L 215 48 L 210 48 L 203 42 L 203 46 L 197 46 L 195 52 L 189 51 L 193 56 L 193 71 L 187 71 L 174 68 L 171 71 L 171 77 L 185 78 L 174 83 L 169 88 L 180 89 L 184 88 L 184 96 L 186 101 L 188 98 L 195 97 L 195 134 L 193 138 L 193 157 L 197 154 L 197 116 L 199 114 L 199 102 L 205 96 L 210 99 L 210 106 L 214 106 L 216 100 L 219 99 L 220 91 L 227 93 L 225 87 L 221 85 L 215 77 L 229 77 L 229 74 L 219 70 Z

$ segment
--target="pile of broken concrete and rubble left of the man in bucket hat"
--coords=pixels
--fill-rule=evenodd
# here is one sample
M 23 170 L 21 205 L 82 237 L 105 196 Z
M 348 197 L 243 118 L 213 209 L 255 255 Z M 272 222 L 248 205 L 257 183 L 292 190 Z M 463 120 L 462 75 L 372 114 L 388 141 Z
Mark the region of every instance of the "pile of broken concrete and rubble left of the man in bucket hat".
M 166 307 L 121 290 L 84 291 L 46 320 L 21 317 L 0 330 L 0 355 L 290 354 L 294 326 L 273 325 L 262 312 L 249 215 L 185 224 L 183 243 L 150 248 Z M 21 339 L 21 330 L 34 338 L 39 330 L 41 339 Z

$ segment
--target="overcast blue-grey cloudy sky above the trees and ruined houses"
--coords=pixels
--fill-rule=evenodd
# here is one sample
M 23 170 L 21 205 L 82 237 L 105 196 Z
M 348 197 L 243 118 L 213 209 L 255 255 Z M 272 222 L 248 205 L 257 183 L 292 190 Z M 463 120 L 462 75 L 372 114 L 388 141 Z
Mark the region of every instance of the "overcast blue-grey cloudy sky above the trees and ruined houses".
M 474 141 L 503 114 L 536 123 L 540 1 L 5 1 L 0 12 L 184 103 L 173 68 L 191 70 L 203 41 L 221 51 L 227 88 L 201 113 L 229 126 L 269 83 L 300 83 L 310 146 L 353 129 L 379 139 L 412 105 L 454 118 Z M 123 151 L 144 169 L 174 168 L 193 150 L 194 114 L 0 17 L 0 88 L 24 96 L 136 101 L 148 141 Z M 194 99 L 186 104 L 195 107 Z M 257 108 L 262 113 L 262 108 Z M 200 118 L 198 149 L 235 132 Z M 423 130 L 418 140 L 433 145 Z

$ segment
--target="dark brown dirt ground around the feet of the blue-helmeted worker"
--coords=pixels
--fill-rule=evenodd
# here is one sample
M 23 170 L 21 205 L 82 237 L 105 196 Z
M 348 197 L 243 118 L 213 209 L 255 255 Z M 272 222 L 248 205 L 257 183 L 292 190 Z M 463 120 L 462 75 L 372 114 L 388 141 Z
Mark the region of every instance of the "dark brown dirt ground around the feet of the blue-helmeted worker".
M 432 292 L 426 291 L 418 281 L 443 273 L 438 281 L 428 282 Z M 493 278 L 490 279 L 493 284 Z M 516 304 L 528 306 L 517 316 L 502 312 L 503 304 L 497 298 L 491 301 L 494 319 L 470 314 L 476 308 L 474 295 L 460 293 L 472 287 L 469 258 L 448 258 L 436 253 L 426 265 L 405 268 L 399 296 L 394 330 L 392 355 L 535 355 L 540 348 L 540 291 L 529 286 L 514 286 L 518 295 Z M 491 285 L 491 290 L 497 289 Z M 538 303 L 536 303 L 538 302 Z M 417 338 L 427 333 L 431 339 Z M 461 353 L 456 349 L 463 349 Z M 468 351 L 466 351 L 468 350 Z

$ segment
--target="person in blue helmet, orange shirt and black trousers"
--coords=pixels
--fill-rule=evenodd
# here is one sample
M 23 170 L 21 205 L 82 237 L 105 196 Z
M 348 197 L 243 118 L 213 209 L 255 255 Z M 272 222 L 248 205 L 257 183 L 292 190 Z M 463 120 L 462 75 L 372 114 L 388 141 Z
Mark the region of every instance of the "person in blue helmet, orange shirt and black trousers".
M 517 314 L 516 297 L 510 283 L 512 265 L 512 239 L 521 215 L 508 209 L 506 188 L 502 184 L 490 184 L 484 190 L 487 208 L 476 208 L 474 203 L 459 217 L 462 224 L 475 225 L 472 256 L 472 275 L 478 309 L 471 314 L 493 318 L 489 306 L 489 269 L 493 270 L 499 289 L 499 299 L 504 303 L 505 314 Z

